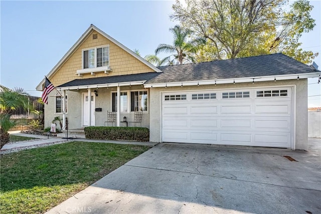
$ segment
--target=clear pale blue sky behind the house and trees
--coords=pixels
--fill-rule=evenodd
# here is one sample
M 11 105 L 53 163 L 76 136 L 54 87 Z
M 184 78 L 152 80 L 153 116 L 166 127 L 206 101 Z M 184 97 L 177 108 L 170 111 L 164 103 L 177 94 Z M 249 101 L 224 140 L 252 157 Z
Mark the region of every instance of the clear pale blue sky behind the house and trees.
M 172 44 L 169 19 L 174 1 L 1 1 L 1 76 L 9 88 L 21 87 L 34 96 L 35 88 L 71 46 L 95 25 L 141 56 L 161 44 Z M 304 34 L 304 50 L 321 52 L 321 2 L 311 1 L 316 20 Z M 321 68 L 321 57 L 316 64 Z M 309 96 L 321 94 L 321 84 L 309 80 Z M 309 106 L 321 106 L 321 96 L 308 97 Z

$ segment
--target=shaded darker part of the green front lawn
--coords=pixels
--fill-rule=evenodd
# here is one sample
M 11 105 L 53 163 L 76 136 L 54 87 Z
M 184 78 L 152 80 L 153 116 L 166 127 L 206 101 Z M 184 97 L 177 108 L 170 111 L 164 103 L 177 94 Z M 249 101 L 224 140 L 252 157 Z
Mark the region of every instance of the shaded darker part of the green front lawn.
M 5 154 L 1 157 L 1 191 L 91 184 L 149 148 L 70 142 Z

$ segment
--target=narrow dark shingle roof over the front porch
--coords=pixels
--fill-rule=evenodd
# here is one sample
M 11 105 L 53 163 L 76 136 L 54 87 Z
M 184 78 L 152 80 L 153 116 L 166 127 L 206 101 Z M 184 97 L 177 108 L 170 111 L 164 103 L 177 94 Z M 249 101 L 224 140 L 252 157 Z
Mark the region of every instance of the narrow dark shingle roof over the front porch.
M 123 83 L 123 82 L 136 82 L 136 81 L 146 81 L 154 78 L 159 73 L 149 72 L 141 74 L 130 74 L 130 75 L 120 75 L 120 76 L 110 76 L 110 77 L 97 77 L 88 79 L 76 79 L 68 83 L 57 86 L 61 87 L 71 87 L 71 86 L 85 86 L 85 85 L 99 85 L 99 84 L 111 84 L 111 83 Z

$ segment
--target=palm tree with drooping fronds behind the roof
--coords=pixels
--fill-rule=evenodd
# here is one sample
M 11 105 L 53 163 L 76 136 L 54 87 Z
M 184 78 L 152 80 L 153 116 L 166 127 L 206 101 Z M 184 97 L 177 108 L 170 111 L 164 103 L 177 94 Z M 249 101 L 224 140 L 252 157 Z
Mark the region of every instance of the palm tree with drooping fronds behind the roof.
M 155 55 L 160 52 L 170 53 L 172 55 L 162 59 L 159 65 L 165 62 L 168 62 L 168 65 L 196 62 L 193 55 L 197 53 L 200 46 L 205 43 L 205 40 L 196 37 L 189 41 L 189 37 L 193 36 L 193 31 L 184 29 L 178 25 L 170 28 L 170 31 L 174 35 L 173 45 L 159 44 L 155 50 Z

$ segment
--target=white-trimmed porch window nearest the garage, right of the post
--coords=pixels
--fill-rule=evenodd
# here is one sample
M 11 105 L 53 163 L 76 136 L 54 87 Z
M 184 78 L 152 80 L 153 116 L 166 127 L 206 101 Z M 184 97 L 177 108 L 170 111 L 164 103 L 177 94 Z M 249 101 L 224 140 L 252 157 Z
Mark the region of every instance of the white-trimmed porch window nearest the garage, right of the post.
M 148 96 L 147 91 L 130 92 L 130 111 L 147 111 Z

